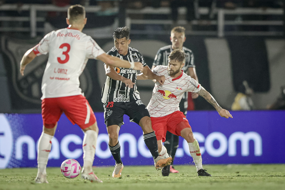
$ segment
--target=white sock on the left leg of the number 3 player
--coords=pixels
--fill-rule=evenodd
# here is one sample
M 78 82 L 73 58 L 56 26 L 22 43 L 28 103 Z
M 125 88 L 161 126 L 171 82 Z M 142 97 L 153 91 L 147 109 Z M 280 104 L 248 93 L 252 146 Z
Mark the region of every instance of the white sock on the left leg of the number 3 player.
M 48 154 L 52 148 L 52 137 L 42 132 L 38 140 L 38 172 L 46 174 L 46 165 L 48 164 Z

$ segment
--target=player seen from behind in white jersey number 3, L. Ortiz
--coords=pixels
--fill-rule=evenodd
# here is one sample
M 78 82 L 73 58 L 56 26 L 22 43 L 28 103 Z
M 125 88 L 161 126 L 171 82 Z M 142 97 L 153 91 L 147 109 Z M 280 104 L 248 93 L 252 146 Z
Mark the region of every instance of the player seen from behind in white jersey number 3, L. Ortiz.
M 48 183 L 46 165 L 51 150 L 51 140 L 62 114 L 72 124 L 84 131 L 81 177 L 91 182 L 102 182 L 93 173 L 92 165 L 98 136 L 95 115 L 79 88 L 79 76 L 89 58 L 98 59 L 112 66 L 142 70 L 141 63 L 133 63 L 107 55 L 82 29 L 86 24 L 85 9 L 81 5 L 68 8 L 68 28 L 52 31 L 34 48 L 29 49 L 21 60 L 20 72 L 36 56 L 47 54 L 48 62 L 42 77 L 42 120 L 43 131 L 38 141 L 38 173 L 36 183 Z

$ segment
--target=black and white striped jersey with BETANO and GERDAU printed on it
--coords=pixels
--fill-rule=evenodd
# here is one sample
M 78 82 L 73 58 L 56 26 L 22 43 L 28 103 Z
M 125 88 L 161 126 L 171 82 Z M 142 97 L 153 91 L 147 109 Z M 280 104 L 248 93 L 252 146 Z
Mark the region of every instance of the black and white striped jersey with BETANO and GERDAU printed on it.
M 113 47 L 107 54 L 118 57 L 129 62 L 141 62 L 143 66 L 147 66 L 141 53 L 135 48 L 129 47 L 127 55 L 120 55 L 116 48 Z M 117 73 L 127 79 L 131 79 L 135 83 L 133 88 L 129 88 L 122 81 L 113 80 L 107 76 L 102 89 L 101 101 L 107 102 L 129 102 L 140 100 L 140 93 L 137 91 L 137 70 L 129 68 L 115 67 Z

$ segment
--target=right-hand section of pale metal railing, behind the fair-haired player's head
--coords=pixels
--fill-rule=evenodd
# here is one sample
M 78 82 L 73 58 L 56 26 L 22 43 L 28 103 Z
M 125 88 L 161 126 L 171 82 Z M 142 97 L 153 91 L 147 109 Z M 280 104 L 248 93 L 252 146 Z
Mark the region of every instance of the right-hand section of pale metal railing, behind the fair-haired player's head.
M 171 14 L 170 8 L 152 8 L 146 7 L 141 10 L 127 10 L 127 17 L 126 17 L 126 25 L 131 28 L 132 24 L 163 24 L 163 25 L 172 25 L 174 22 L 172 20 L 144 20 L 144 19 L 131 19 L 131 14 L 151 14 L 151 15 L 169 15 Z M 186 14 L 186 8 L 180 7 L 178 9 L 178 13 L 180 15 Z M 283 15 L 283 9 L 273 9 L 273 8 L 237 8 L 237 9 L 215 9 L 213 11 L 214 14 L 217 14 L 217 21 L 198 21 L 193 20 L 191 21 L 192 25 L 217 25 L 217 31 L 186 31 L 186 34 L 194 34 L 194 35 L 217 35 L 219 37 L 223 37 L 225 35 L 268 35 L 268 36 L 275 36 L 275 35 L 283 35 L 283 32 L 270 32 L 270 31 L 232 31 L 232 32 L 225 32 L 224 28 L 225 25 L 274 25 L 274 26 L 282 26 L 284 22 L 282 20 L 272 20 L 272 21 L 228 21 L 225 20 L 225 15 Z M 198 9 L 198 14 L 200 15 L 207 15 L 209 14 L 209 8 L 200 7 Z M 177 25 L 186 25 L 186 20 L 178 20 Z M 132 30 L 132 33 L 136 34 L 151 34 L 154 31 L 139 31 L 139 30 Z M 169 31 L 155 31 L 157 34 L 167 34 Z

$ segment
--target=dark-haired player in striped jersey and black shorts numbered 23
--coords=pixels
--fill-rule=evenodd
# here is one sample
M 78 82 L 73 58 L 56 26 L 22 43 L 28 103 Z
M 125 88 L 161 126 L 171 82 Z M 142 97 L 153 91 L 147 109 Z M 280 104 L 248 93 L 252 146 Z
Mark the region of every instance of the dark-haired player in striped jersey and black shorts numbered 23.
M 107 54 L 129 62 L 142 62 L 144 66 L 142 71 L 147 79 L 155 79 L 160 85 L 164 83 L 165 77 L 155 75 L 144 62 L 141 53 L 129 47 L 131 42 L 129 28 L 126 26 L 117 28 L 113 39 L 115 46 Z M 156 169 L 169 165 L 171 157 L 163 159 L 158 155 L 157 140 L 152 130 L 150 116 L 137 91 L 137 71 L 124 67 L 115 68 L 108 63 L 105 64 L 105 70 L 107 79 L 102 90 L 102 102 L 105 108 L 104 118 L 109 135 L 109 148 L 116 161 L 112 177 L 120 177 L 124 167 L 118 141 L 120 127 L 124 124 L 124 114 L 143 129 L 144 142 L 152 154 Z

